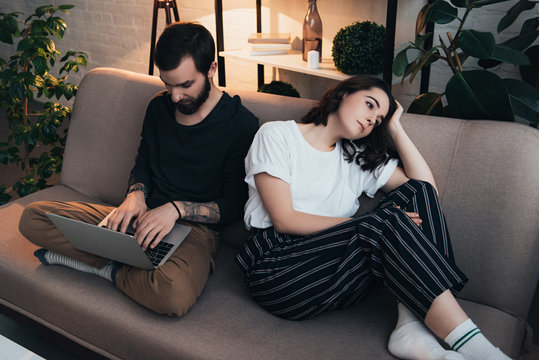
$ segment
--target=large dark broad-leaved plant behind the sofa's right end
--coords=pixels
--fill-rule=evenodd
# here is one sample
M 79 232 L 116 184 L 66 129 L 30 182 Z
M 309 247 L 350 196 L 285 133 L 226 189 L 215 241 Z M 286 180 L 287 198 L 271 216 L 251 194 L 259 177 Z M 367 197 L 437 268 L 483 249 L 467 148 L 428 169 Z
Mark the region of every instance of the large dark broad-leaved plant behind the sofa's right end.
M 447 63 L 453 75 L 447 82 L 445 92 L 421 94 L 412 102 L 409 112 L 504 121 L 515 121 L 515 117 L 520 117 L 531 123 L 539 123 L 539 91 L 524 81 L 501 79 L 488 70 L 501 62 L 517 66 L 533 65 L 522 50 L 537 38 L 539 18 L 524 22 L 517 37 L 501 44 L 496 44 L 494 35 L 490 32 L 464 27 L 471 11 L 507 1 L 509 0 L 437 0 L 421 9 L 417 16 L 415 41 L 397 54 L 393 73 L 402 76 L 402 81 L 410 77 L 410 82 L 413 82 L 423 67 L 441 60 Z M 520 0 L 500 20 L 498 31 L 507 28 L 523 11 L 532 9 L 535 5 L 534 1 Z M 459 17 L 459 8 L 463 9 L 462 17 Z M 446 39 L 440 36 L 439 45 L 425 49 L 425 40 L 433 34 L 421 35 L 421 32 L 429 21 L 435 24 L 459 21 L 460 24 L 456 33 L 448 33 Z M 417 54 L 411 61 L 408 59 L 410 53 Z M 470 58 L 480 59 L 479 65 L 483 69 L 464 70 L 464 62 Z M 446 105 L 442 103 L 444 97 Z

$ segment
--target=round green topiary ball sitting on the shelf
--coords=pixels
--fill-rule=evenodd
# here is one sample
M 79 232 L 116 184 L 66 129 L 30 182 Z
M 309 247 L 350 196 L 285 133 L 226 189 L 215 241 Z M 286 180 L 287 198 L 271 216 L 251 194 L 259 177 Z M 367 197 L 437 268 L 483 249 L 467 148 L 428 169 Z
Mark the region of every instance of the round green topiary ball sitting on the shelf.
M 384 70 L 386 28 L 370 21 L 344 27 L 333 38 L 335 67 L 348 75 L 379 74 Z

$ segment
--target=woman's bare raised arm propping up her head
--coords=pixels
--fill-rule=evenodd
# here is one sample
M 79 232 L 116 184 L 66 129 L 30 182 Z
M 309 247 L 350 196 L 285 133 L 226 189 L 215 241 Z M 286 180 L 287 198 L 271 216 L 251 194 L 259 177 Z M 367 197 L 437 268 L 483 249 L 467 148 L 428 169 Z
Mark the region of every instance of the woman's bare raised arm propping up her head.
M 402 127 L 400 122 L 403 111 L 402 106 L 398 102 L 397 106 L 397 110 L 389 120 L 388 132 L 399 153 L 404 169 L 397 167 L 386 185 L 384 185 L 383 190 L 389 192 L 409 179 L 426 181 L 436 188 L 434 176 L 427 162 Z

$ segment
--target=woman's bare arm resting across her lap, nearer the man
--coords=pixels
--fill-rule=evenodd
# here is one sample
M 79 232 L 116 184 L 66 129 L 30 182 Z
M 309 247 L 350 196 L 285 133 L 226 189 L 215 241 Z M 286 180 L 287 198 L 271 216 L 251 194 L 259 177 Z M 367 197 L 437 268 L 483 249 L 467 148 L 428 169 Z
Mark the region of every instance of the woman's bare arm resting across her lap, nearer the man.
M 280 233 L 308 235 L 350 220 L 294 210 L 290 185 L 268 173 L 256 174 L 255 184 L 275 230 Z

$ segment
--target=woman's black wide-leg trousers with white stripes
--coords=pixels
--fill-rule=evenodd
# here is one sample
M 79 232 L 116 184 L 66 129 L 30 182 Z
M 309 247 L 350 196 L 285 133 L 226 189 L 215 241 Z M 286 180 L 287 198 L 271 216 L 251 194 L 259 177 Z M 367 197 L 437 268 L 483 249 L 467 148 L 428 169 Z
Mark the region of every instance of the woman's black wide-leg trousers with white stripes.
M 421 226 L 404 211 L 419 213 Z M 291 320 L 345 308 L 378 286 L 423 319 L 438 295 L 456 294 L 467 281 L 453 260 L 436 191 L 417 180 L 369 213 L 305 237 L 253 229 L 236 262 L 253 299 Z

